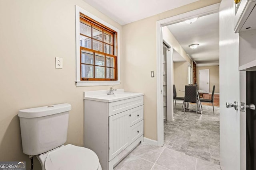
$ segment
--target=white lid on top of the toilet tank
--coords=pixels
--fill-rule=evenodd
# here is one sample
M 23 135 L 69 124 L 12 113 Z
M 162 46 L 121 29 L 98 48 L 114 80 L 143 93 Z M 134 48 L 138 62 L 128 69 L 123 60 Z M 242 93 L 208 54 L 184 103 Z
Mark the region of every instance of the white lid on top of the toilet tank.
M 24 118 L 34 118 L 34 117 L 43 117 L 48 115 L 54 115 L 57 113 L 62 113 L 65 111 L 70 111 L 71 105 L 68 103 L 56 104 L 43 107 L 35 107 L 30 109 L 22 109 L 18 113 L 18 117 Z

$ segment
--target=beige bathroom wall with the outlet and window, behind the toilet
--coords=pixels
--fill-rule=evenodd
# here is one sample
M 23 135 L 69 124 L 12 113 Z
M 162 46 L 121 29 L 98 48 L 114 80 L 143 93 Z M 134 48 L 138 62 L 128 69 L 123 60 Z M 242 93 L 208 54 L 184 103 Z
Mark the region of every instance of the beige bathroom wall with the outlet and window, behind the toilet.
M 75 86 L 75 5 L 120 29 L 122 48 L 122 26 L 82 0 L 0 1 L 0 161 L 22 160 L 30 167 L 22 152 L 20 109 L 70 103 L 66 143 L 84 144 L 83 92 L 110 86 Z M 55 57 L 63 58 L 63 69 L 54 68 Z

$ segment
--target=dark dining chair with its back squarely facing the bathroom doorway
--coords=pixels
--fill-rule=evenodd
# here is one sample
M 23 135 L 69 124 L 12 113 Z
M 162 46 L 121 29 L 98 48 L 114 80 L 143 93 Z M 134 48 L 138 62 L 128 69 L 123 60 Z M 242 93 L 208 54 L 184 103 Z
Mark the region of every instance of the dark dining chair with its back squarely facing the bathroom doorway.
M 197 113 L 197 103 L 198 103 L 198 99 L 197 99 L 197 94 L 196 94 L 196 86 L 185 86 L 185 96 L 184 96 L 184 114 L 185 114 L 185 107 L 186 107 L 186 103 L 195 103 L 196 104 L 196 113 Z

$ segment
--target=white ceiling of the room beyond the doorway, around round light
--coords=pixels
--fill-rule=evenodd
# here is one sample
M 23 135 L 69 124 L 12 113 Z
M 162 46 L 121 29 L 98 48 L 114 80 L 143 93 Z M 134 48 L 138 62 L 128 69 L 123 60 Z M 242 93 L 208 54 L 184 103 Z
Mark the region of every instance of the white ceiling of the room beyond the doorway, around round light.
M 200 17 L 192 24 L 180 22 L 167 27 L 197 66 L 219 64 L 219 13 Z M 188 47 L 196 43 L 198 48 Z

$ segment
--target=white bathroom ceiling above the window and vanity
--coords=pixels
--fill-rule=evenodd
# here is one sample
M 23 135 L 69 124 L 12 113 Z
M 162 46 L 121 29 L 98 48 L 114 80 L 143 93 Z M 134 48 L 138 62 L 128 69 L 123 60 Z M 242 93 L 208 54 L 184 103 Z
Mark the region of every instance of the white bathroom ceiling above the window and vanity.
M 120 25 L 125 25 L 198 0 L 84 0 Z

